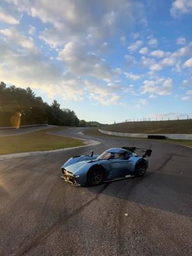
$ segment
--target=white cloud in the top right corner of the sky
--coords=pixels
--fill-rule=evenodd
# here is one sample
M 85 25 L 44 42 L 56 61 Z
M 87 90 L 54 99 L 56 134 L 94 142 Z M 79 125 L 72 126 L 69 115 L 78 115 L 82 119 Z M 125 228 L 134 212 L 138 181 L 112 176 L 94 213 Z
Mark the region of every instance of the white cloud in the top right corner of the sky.
M 170 13 L 173 17 L 181 14 L 192 13 L 192 0 L 175 0 L 172 4 Z

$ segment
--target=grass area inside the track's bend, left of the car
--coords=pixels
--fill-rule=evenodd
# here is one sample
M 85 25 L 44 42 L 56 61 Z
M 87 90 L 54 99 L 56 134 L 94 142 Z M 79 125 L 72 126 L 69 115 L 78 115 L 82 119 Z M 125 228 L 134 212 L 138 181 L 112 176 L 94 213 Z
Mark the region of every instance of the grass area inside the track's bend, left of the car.
M 52 127 L 27 134 L 6 137 L 0 136 L 0 154 L 42 151 L 83 145 L 81 140 L 47 133 L 61 131 L 66 128 L 67 127 Z

